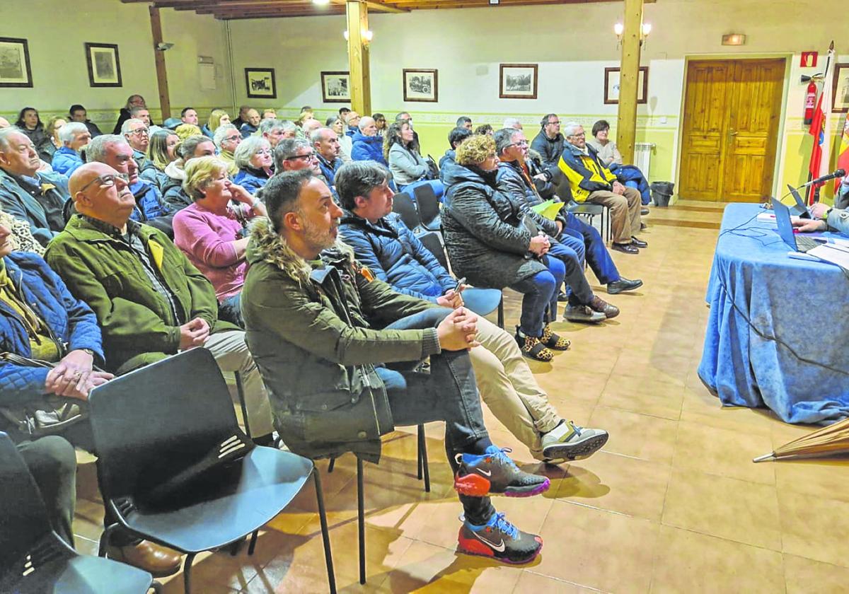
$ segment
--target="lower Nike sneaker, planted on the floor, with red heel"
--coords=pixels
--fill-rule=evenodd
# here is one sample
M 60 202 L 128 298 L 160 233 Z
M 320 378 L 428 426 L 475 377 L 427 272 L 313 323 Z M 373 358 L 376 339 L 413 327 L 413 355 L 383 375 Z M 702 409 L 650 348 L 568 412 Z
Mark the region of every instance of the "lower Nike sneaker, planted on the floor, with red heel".
M 457 542 L 458 552 L 514 565 L 530 563 L 543 549 L 542 537 L 522 532 L 504 519 L 503 513 L 493 513 L 482 526 L 464 520 Z

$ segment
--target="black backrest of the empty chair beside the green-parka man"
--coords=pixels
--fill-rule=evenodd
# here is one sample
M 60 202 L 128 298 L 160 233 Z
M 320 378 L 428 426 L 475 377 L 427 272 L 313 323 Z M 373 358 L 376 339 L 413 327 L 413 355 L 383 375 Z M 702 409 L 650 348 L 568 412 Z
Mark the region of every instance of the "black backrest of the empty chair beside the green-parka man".
M 248 449 L 227 384 L 203 348 L 115 378 L 93 389 L 88 402 L 104 501 L 138 501 L 142 489 L 190 477 L 225 442 L 233 451 Z

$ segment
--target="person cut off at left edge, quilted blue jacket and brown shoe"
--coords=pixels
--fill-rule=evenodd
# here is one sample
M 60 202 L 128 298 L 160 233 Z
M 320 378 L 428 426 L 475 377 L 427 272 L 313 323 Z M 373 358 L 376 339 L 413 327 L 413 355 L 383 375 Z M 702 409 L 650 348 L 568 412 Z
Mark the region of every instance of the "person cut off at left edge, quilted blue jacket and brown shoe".
M 93 369 L 93 363 L 104 362 L 93 311 L 70 294 L 41 256 L 12 252 L 10 233 L 0 226 L 0 350 L 56 365 L 31 367 L 0 360 L 0 431 L 19 445 L 25 462 L 35 467 L 33 474 L 53 527 L 73 546 L 76 457 L 65 440 L 91 451 L 91 426 L 81 418 L 60 430 L 61 437 L 34 440 L 26 421 L 31 413 L 25 410 L 51 410 L 55 405 L 45 400 L 49 395 L 86 401 L 88 392 L 112 374 Z M 107 511 L 104 524 L 113 523 Z M 107 552 L 110 558 L 157 576 L 180 569 L 176 552 L 120 533 L 111 539 Z

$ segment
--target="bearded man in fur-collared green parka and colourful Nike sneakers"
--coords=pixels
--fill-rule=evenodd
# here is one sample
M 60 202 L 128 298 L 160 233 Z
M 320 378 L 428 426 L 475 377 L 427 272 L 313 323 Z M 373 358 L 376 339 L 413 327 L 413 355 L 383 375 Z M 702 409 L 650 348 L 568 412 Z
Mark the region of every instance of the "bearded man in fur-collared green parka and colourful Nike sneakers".
M 549 481 L 522 472 L 489 439 L 466 353 L 476 345 L 476 317 L 397 294 L 357 266 L 350 249 L 329 250 L 342 212 L 310 172 L 275 176 L 263 194 L 270 221 L 252 227 L 242 313 L 286 445 L 307 457 L 355 451 L 376 461 L 380 435 L 393 422 L 444 420 L 448 462 L 464 507 L 459 550 L 531 561 L 542 539 L 508 524 L 489 496 L 536 495 Z M 372 328 L 386 322 L 382 330 Z M 415 365 L 427 356 L 426 375 L 374 367 Z M 374 398 L 373 389 L 385 399 Z M 475 538 L 482 531 L 484 541 Z

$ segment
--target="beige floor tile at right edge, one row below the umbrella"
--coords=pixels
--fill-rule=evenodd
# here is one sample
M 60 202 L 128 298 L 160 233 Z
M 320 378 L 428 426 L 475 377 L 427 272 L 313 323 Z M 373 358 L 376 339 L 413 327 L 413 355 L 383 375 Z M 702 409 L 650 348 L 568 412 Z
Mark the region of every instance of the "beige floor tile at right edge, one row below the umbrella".
M 784 552 L 849 567 L 849 503 L 779 490 Z

